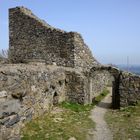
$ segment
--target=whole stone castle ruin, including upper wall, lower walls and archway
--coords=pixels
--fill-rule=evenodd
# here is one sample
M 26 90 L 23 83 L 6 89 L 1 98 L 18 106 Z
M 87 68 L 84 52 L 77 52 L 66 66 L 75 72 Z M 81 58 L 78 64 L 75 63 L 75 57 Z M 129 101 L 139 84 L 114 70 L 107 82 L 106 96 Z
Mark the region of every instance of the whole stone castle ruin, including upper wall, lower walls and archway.
M 65 32 L 30 10 L 9 10 L 8 63 L 0 64 L 0 138 L 17 139 L 22 124 L 63 102 L 90 104 L 112 82 L 113 108 L 140 100 L 140 77 L 101 65 L 80 34 Z

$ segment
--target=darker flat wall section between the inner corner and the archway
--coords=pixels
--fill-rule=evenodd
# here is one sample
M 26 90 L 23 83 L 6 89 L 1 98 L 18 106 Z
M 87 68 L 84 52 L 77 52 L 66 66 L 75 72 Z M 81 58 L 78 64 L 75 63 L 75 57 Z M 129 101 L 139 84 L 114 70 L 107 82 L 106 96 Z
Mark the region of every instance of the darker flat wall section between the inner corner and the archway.
M 79 103 L 90 103 L 89 80 L 82 73 L 66 71 L 66 100 Z

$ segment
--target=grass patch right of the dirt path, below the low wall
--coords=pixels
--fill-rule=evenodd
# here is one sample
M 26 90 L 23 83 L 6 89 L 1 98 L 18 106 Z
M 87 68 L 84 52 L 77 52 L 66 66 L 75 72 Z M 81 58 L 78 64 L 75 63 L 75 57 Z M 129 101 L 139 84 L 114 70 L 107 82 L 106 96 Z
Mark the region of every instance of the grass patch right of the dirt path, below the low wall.
M 136 106 L 110 110 L 105 119 L 114 140 L 140 140 L 140 102 Z

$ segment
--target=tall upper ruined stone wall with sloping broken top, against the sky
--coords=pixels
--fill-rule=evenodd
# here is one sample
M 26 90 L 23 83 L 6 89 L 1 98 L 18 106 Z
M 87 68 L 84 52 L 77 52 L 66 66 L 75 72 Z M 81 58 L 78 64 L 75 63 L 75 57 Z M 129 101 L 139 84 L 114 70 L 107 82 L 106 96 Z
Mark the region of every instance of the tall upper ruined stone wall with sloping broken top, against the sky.
M 45 61 L 58 66 L 91 68 L 98 64 L 82 37 L 51 27 L 23 7 L 9 10 L 9 59 Z

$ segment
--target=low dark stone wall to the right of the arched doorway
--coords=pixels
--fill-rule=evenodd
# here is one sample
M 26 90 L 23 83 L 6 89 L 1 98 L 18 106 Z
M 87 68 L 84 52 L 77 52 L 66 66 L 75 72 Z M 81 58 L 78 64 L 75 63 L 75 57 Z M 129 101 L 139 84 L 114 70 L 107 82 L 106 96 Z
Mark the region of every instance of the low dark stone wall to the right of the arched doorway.
M 120 106 L 134 105 L 140 100 L 140 76 L 122 72 L 119 84 Z

